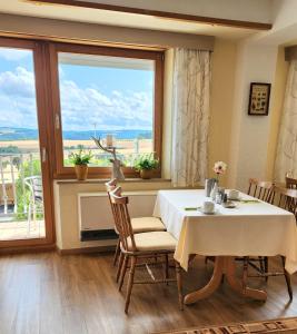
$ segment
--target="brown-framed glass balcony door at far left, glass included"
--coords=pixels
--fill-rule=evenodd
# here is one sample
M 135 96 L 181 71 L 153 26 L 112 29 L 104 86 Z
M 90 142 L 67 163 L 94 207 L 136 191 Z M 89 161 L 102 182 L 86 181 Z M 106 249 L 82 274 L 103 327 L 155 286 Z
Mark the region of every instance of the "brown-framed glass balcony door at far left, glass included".
M 0 38 L 0 248 L 53 242 L 43 56 Z

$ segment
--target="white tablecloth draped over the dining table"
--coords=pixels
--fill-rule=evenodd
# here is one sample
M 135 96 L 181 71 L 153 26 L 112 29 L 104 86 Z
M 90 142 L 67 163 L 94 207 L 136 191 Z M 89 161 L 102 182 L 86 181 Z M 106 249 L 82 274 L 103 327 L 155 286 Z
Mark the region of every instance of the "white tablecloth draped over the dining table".
M 242 199 L 253 197 L 240 194 Z M 160 217 L 178 245 L 175 258 L 187 271 L 190 254 L 208 256 L 286 256 L 286 269 L 297 271 L 297 227 L 293 214 L 267 203 L 216 205 L 215 215 L 198 207 L 205 190 L 160 190 L 154 216 Z

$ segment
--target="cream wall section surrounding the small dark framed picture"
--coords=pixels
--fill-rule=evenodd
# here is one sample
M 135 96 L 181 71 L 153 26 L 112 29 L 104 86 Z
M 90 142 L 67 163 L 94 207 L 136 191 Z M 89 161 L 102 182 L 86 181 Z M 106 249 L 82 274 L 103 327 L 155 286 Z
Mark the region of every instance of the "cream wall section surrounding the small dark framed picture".
M 250 82 L 274 84 L 277 47 L 241 42 L 238 46 L 236 95 L 234 99 L 232 135 L 230 148 L 230 187 L 247 189 L 250 177 L 266 176 L 267 150 L 270 135 L 271 112 L 268 116 L 249 116 L 248 97 Z M 273 108 L 273 86 L 269 110 Z

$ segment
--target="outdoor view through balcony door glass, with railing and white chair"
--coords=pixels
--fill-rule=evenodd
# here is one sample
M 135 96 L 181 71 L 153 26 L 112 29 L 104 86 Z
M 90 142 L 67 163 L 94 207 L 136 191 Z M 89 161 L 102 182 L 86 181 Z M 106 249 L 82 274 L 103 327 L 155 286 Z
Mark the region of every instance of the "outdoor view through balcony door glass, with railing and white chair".
M 44 236 L 32 52 L 0 48 L 0 240 Z

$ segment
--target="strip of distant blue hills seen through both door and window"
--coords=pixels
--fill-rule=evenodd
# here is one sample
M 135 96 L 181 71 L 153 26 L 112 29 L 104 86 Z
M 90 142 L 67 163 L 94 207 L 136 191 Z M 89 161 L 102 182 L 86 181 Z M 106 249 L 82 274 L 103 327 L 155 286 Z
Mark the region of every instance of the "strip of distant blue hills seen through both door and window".
M 105 138 L 108 134 L 115 136 L 116 139 L 151 139 L 151 130 L 86 130 L 86 131 L 63 131 L 65 140 L 89 140 L 91 136 Z M 14 140 L 36 140 L 38 139 L 37 129 L 28 128 L 10 128 L 0 127 L 0 141 L 14 141 Z

